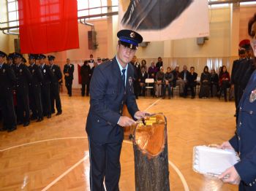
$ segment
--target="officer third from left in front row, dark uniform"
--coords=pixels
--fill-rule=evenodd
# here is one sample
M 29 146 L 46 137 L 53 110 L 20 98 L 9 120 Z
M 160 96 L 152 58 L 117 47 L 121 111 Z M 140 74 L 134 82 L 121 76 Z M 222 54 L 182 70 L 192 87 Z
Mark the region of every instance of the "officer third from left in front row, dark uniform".
M 41 83 L 42 71 L 36 64 L 37 55 L 29 55 L 29 71 L 32 74 L 32 80 L 29 83 L 29 101 L 32 111 L 31 120 L 40 122 L 43 120 L 42 115 L 42 98 L 41 98 Z

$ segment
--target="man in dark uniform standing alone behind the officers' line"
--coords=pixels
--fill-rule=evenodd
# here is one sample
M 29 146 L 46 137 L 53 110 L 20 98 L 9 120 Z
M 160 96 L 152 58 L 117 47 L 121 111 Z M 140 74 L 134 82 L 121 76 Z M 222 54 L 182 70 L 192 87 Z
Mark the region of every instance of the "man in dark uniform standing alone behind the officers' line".
M 67 87 L 67 94 L 72 96 L 72 82 L 73 82 L 73 73 L 74 65 L 70 63 L 70 59 L 67 58 L 67 63 L 64 65 L 63 73 L 65 76 L 65 85 Z

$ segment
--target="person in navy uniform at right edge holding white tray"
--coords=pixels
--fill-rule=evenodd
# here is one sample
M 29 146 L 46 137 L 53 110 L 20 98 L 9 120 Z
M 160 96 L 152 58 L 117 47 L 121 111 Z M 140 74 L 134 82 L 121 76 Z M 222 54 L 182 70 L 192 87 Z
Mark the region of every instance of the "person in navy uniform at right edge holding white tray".
M 249 20 L 249 36 L 252 37 L 256 56 L 256 14 Z M 256 63 L 255 58 L 253 58 Z M 256 190 L 256 71 L 252 73 L 238 105 L 236 135 L 219 148 L 234 149 L 240 161 L 219 176 L 223 182 L 239 184 L 239 191 Z M 225 178 L 226 177 L 226 178 Z

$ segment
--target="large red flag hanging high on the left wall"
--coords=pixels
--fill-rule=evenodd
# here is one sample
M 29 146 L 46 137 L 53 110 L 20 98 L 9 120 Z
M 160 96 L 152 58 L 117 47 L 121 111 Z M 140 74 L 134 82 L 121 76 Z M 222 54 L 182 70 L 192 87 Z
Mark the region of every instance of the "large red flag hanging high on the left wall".
M 22 53 L 79 47 L 77 0 L 18 0 L 18 7 Z

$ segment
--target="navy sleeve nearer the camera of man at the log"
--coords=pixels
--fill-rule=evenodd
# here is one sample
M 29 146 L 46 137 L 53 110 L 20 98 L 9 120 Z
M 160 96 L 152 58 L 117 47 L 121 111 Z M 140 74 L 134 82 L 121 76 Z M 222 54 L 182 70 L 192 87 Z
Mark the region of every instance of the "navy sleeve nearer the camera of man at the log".
M 101 117 L 106 122 L 110 122 L 111 125 L 115 126 L 121 117 L 118 112 L 113 112 L 105 104 L 105 94 L 108 87 L 108 82 L 103 72 L 96 67 L 94 69 L 94 75 L 91 78 L 91 87 L 90 87 L 90 105 L 91 111 L 97 116 Z

